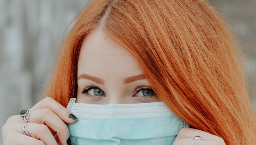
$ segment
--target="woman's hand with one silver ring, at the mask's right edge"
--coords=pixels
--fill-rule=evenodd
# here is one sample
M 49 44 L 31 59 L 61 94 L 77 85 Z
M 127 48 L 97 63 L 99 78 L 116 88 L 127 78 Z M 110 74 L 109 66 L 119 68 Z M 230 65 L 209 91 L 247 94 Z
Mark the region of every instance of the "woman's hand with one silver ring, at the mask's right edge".
M 172 145 L 191 145 L 195 136 L 200 136 L 202 139 L 196 140 L 193 145 L 226 145 L 224 140 L 218 136 L 188 127 L 184 127 L 179 131 Z

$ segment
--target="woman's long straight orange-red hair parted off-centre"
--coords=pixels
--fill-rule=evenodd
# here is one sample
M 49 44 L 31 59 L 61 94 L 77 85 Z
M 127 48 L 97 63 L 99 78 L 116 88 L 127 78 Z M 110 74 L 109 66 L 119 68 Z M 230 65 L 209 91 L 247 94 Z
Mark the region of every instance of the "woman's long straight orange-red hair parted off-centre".
M 203 0 L 94 0 L 80 11 L 57 53 L 42 96 L 63 106 L 77 94 L 77 61 L 97 27 L 127 49 L 168 107 L 227 145 L 256 143 L 241 49 Z

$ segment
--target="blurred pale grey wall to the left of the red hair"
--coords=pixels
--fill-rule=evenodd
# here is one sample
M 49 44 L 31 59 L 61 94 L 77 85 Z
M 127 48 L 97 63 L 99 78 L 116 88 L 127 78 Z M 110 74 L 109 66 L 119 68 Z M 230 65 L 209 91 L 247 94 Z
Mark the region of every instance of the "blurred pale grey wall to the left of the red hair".
M 0 0 L 0 144 L 7 118 L 31 108 L 56 50 L 87 0 Z

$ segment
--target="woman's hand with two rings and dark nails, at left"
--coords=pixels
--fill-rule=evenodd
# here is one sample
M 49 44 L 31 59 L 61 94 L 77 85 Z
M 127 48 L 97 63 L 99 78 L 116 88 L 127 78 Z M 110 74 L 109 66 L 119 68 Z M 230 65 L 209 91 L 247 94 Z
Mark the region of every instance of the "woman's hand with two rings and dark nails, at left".
M 21 133 L 25 121 L 20 115 L 8 118 L 2 127 L 4 145 L 67 145 L 69 130 L 66 123 L 74 123 L 76 117 L 71 111 L 51 97 L 39 101 L 30 109 L 29 122 L 25 127 L 31 137 Z M 49 128 L 56 132 L 50 132 Z

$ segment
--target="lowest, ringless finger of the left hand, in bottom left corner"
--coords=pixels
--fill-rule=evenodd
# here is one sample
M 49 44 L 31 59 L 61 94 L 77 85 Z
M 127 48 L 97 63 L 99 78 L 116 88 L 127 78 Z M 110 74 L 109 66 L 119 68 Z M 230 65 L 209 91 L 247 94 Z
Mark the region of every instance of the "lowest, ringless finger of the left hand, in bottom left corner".
M 45 145 L 43 141 L 10 130 L 8 137 L 3 140 L 3 145 Z

